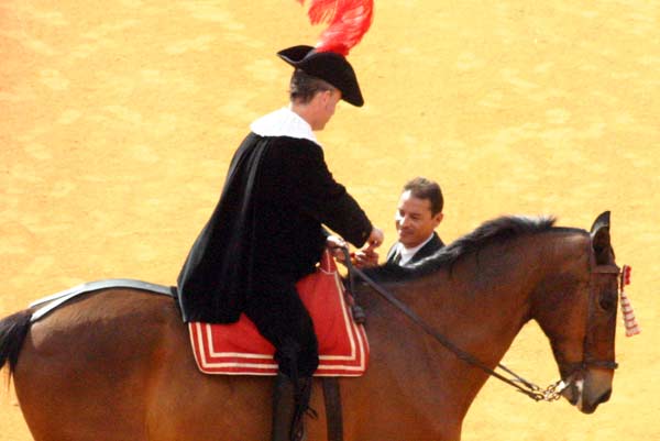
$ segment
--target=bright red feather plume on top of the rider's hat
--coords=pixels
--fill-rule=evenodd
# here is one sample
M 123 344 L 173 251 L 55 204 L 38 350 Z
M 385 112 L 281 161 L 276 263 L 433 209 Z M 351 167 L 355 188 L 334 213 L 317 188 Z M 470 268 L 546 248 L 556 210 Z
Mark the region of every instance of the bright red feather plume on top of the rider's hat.
M 305 4 L 305 0 L 298 0 Z M 373 0 L 310 0 L 311 24 L 330 23 L 316 45 L 317 52 L 336 52 L 349 55 L 372 23 Z

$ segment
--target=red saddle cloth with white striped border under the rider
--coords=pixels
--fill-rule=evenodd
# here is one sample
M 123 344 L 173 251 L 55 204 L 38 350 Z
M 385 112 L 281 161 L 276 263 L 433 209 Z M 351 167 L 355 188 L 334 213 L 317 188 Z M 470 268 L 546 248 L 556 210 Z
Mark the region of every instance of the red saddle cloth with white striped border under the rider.
M 353 321 L 334 260 L 323 253 L 316 273 L 296 285 L 319 341 L 315 376 L 360 376 L 366 371 L 369 342 Z M 275 375 L 275 348 L 241 315 L 231 324 L 188 323 L 197 366 L 205 374 Z

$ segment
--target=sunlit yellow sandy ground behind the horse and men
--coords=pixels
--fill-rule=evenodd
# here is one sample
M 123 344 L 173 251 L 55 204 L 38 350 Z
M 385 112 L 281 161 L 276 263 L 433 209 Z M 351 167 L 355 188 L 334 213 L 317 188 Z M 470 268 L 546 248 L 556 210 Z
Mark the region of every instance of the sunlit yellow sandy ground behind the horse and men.
M 350 60 L 366 106 L 319 134 L 391 243 L 403 183 L 444 190 L 452 240 L 505 213 L 588 228 L 613 212 L 642 334 L 617 331 L 592 416 L 490 381 L 464 440 L 660 439 L 660 3 L 376 0 Z M 0 3 L 0 315 L 78 283 L 173 284 L 256 117 L 286 103 L 274 53 L 314 44 L 293 0 Z M 557 378 L 530 323 L 504 363 Z M 438 416 L 442 418 L 442 416 Z M 0 440 L 30 440 L 11 392 Z

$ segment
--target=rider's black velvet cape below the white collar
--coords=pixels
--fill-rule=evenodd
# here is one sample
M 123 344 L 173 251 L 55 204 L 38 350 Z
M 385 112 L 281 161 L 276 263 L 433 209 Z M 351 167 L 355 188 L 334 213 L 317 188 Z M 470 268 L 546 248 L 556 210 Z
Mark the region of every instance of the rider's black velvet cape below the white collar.
M 249 296 L 290 289 L 319 261 L 321 224 L 356 246 L 372 230 L 318 144 L 250 133 L 179 274 L 184 320 L 233 322 Z

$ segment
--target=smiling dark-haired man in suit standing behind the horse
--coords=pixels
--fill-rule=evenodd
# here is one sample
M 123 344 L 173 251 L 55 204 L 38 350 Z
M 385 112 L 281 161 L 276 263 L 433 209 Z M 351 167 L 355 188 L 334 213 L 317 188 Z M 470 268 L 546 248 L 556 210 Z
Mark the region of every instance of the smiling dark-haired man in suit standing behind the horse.
M 403 189 L 395 216 L 398 242 L 387 253 L 386 265 L 410 266 L 444 246 L 436 232 L 442 222 L 444 200 L 438 183 L 416 177 Z M 371 250 L 355 253 L 359 267 L 376 266 L 378 254 Z

